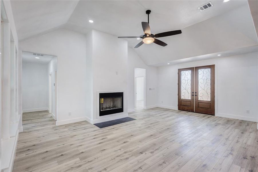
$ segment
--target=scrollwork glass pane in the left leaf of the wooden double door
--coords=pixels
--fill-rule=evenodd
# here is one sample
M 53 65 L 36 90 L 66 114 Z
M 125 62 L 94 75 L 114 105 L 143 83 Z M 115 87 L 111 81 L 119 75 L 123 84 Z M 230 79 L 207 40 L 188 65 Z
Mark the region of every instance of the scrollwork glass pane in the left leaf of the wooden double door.
M 181 99 L 191 99 L 191 71 L 181 71 Z

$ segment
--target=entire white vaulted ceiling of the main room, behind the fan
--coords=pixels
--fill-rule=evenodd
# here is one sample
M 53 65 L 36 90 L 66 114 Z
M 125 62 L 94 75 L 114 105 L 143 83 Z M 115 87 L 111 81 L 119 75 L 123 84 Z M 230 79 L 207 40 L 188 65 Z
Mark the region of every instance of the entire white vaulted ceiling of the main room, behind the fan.
M 135 49 L 148 65 L 257 46 L 246 0 L 227 3 L 212 0 L 213 7 L 198 10 L 208 2 L 11 1 L 11 5 L 19 40 L 59 28 L 83 34 L 96 29 L 115 36 L 139 36 L 143 34 L 141 21 L 147 21 L 145 11 L 151 9 L 149 23 L 153 34 L 178 29 L 182 34 L 160 38 L 168 44 L 166 47 L 144 44 Z M 130 47 L 138 42 L 128 39 Z

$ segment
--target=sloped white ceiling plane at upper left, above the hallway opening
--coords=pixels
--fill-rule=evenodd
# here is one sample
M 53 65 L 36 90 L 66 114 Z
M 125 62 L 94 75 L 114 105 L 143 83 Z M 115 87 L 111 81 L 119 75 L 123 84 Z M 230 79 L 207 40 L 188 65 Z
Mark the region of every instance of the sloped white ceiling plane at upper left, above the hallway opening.
M 67 23 L 78 1 L 11 1 L 19 40 L 60 28 Z

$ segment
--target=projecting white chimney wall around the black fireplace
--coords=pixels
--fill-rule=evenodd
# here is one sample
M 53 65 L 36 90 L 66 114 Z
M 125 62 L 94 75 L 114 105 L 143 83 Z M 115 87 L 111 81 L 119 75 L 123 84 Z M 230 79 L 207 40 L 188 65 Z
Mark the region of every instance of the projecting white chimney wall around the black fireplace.
M 103 122 L 128 116 L 127 114 L 127 41 L 117 37 L 91 30 L 87 40 L 87 88 L 88 93 L 87 120 L 91 123 Z M 90 83 L 92 81 L 92 83 Z M 124 112 L 119 115 L 98 116 L 98 91 L 124 91 Z

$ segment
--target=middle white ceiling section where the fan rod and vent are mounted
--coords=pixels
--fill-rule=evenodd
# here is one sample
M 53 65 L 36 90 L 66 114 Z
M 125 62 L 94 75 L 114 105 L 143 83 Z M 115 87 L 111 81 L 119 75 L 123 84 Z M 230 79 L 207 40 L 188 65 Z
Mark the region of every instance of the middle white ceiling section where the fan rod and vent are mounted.
M 198 7 L 209 1 L 80 1 L 67 23 L 67 28 L 81 33 L 90 29 L 100 30 L 115 36 L 139 36 L 143 34 L 142 21 L 147 21 L 145 11 L 151 9 L 149 24 L 151 32 L 183 29 L 216 15 L 220 15 L 246 1 L 211 1 L 210 9 Z M 88 20 L 94 23 L 89 23 Z M 134 47 L 138 40 L 129 41 Z M 132 42 L 131 42 L 132 41 Z

